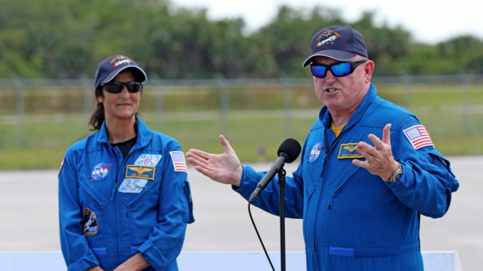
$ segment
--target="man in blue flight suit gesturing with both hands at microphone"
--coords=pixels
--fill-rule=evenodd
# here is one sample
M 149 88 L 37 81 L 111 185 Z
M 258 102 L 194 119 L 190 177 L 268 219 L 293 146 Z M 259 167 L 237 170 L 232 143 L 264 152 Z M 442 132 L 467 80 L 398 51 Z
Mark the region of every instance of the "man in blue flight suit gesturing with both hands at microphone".
M 303 66 L 324 106 L 285 185 L 285 216 L 304 219 L 307 269 L 423 270 L 419 215 L 443 216 L 459 187 L 448 160 L 416 116 L 376 95 L 359 32 L 326 27 L 311 48 Z M 188 162 L 248 199 L 265 172 L 220 143 L 224 154 L 192 149 Z M 278 215 L 278 193 L 274 180 L 253 204 Z

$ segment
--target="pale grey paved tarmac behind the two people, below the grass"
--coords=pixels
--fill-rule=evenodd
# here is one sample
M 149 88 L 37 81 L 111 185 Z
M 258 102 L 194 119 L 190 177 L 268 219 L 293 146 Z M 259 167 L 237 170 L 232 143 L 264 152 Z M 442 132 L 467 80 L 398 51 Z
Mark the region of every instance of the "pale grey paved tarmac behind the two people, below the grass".
M 450 157 L 460 181 L 448 213 L 421 216 L 422 251 L 458 251 L 465 271 L 483 269 L 483 156 Z M 271 163 L 252 165 L 267 170 Z M 295 164 L 285 165 L 287 174 Z M 195 223 L 184 251 L 262 251 L 248 202 L 189 167 Z M 59 251 L 57 170 L 0 171 L 0 251 Z M 268 251 L 280 251 L 280 219 L 251 207 Z M 287 251 L 304 251 L 301 220 L 285 219 Z

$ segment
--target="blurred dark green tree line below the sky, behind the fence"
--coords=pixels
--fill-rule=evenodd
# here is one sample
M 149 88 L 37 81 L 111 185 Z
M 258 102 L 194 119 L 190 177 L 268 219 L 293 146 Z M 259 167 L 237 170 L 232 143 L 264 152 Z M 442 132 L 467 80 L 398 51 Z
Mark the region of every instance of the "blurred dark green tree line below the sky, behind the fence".
M 281 6 L 248 33 L 242 18 L 210 20 L 206 9 L 167 0 L 0 0 L 0 78 L 92 78 L 125 54 L 161 79 L 304 78 L 301 63 L 321 28 L 350 24 L 364 35 L 375 76 L 483 74 L 483 41 L 457 36 L 417 43 L 401 26 L 356 21 L 337 9 Z

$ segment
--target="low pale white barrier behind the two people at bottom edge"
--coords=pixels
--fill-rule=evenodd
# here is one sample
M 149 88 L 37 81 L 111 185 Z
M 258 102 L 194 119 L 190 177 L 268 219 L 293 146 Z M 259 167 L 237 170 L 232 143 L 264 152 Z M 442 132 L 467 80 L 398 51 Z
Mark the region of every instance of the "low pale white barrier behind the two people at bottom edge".
M 280 269 L 280 253 L 269 252 L 276 270 Z M 463 271 L 457 251 L 422 252 L 425 271 Z M 286 270 L 305 269 L 304 252 L 286 253 Z M 264 268 L 264 266 L 266 268 Z M 263 252 L 182 252 L 178 257 L 180 271 L 245 271 L 269 270 Z M 9 271 L 65 271 L 61 252 L 0 252 L 0 269 Z

